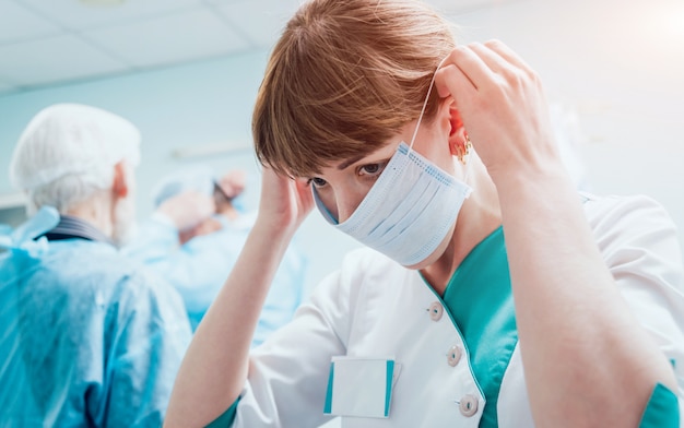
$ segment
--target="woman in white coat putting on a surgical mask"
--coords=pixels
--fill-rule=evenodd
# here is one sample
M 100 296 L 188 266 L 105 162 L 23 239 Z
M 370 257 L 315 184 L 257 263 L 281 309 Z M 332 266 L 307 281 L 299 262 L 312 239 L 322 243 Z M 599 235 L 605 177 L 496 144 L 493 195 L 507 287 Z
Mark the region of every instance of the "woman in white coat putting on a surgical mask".
M 312 0 L 252 129 L 259 219 L 168 426 L 680 426 L 674 225 L 647 198 L 575 190 L 540 79 L 507 46 L 458 46 L 417 1 Z M 368 248 L 249 354 L 315 207 Z

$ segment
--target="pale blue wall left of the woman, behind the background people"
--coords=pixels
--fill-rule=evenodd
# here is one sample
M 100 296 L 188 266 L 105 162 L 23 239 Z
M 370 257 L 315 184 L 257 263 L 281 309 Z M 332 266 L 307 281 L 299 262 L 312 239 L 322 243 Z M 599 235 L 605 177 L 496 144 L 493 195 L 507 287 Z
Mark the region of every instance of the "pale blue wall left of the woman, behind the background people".
M 42 108 L 63 102 L 84 103 L 117 112 L 142 133 L 138 168 L 139 217 L 151 212 L 153 183 L 174 168 L 205 164 L 215 171 L 241 167 L 248 171 L 246 205 L 256 209 L 260 174 L 251 151 L 250 120 L 268 52 L 198 62 L 134 75 L 83 82 L 0 97 L 0 195 L 12 192 L 8 167 L 24 126 Z M 188 146 L 228 142 L 234 152 L 176 159 L 172 152 Z M 12 212 L 15 213 L 15 212 Z M 0 223 L 8 222 L 0 217 Z M 345 251 L 358 247 L 318 215 L 310 215 L 297 234 L 309 259 L 307 289 L 335 269 Z

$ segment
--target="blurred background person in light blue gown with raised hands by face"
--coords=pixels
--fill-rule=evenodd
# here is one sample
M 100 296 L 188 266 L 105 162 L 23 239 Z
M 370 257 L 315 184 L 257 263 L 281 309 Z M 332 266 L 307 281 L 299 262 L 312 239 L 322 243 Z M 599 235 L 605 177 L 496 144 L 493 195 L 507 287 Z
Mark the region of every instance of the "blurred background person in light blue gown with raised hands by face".
M 153 191 L 155 212 L 125 250 L 173 284 L 192 329 L 223 286 L 256 221 L 239 203 L 245 174 L 219 180 L 211 168 L 192 167 L 163 178 Z M 291 245 L 273 278 L 251 346 L 287 323 L 302 301 L 306 259 Z

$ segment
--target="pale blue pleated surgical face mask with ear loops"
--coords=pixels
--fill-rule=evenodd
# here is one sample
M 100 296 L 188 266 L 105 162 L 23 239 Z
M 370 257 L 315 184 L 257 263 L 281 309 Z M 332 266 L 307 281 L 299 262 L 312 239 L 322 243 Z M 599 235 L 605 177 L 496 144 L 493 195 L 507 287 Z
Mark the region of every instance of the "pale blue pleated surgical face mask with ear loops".
M 433 86 L 431 82 L 431 90 Z M 404 266 L 426 260 L 446 238 L 472 189 L 413 151 L 423 104 L 411 145 L 397 152 L 364 200 L 343 223 L 332 216 L 311 187 L 316 206 L 334 227 Z

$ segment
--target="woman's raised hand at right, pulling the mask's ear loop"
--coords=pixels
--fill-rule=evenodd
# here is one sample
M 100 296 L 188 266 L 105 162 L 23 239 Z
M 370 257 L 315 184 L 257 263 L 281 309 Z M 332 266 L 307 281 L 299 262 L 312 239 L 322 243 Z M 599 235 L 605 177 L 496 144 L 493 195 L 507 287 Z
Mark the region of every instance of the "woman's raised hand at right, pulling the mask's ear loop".
M 455 99 L 495 183 L 561 162 L 540 79 L 503 43 L 455 48 L 435 85 L 441 97 Z

